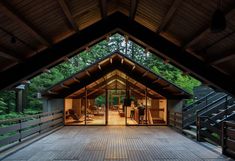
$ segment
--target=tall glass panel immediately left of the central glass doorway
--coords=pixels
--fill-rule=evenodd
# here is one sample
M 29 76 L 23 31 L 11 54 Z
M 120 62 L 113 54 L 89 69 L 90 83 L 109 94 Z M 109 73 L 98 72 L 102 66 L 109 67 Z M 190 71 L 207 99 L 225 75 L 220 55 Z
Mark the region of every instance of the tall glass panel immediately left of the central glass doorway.
M 104 89 L 87 90 L 87 125 L 104 125 L 106 113 L 106 93 Z

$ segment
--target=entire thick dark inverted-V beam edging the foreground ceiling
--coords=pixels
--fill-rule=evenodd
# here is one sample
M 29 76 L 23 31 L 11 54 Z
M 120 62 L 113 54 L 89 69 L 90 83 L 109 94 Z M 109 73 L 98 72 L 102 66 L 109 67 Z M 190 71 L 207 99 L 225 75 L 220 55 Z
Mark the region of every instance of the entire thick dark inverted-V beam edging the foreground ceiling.
M 144 43 L 141 44 L 142 46 L 147 45 L 151 47 L 153 54 L 169 59 L 171 63 L 180 69 L 190 71 L 195 77 L 214 87 L 235 94 L 233 90 L 235 82 L 231 77 L 209 66 L 202 60 L 195 58 L 187 51 L 182 51 L 181 47 L 139 23 L 131 21 L 129 17 L 120 12 L 116 12 L 79 33 L 54 44 L 52 47 L 27 59 L 24 63 L 5 70 L 0 75 L 0 89 L 17 85 L 17 82 L 39 74 L 45 67 L 48 68 L 59 63 L 64 56 L 72 55 L 75 51 L 81 51 L 90 42 L 95 43 L 98 40 L 105 39 L 105 35 L 114 30 L 117 31 L 117 28 L 120 33 L 128 34 L 129 38 L 132 38 L 134 42 L 140 44 L 138 40 L 141 40 Z M 19 71 L 21 73 L 17 74 Z

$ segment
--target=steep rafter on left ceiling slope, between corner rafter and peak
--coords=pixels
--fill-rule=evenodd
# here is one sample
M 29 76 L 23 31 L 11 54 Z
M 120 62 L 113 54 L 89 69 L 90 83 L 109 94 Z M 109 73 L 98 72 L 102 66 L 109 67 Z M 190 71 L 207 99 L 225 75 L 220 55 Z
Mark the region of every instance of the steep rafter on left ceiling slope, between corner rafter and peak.
M 71 11 L 67 5 L 66 0 L 57 0 L 57 1 L 60 4 L 61 9 L 63 10 L 63 12 L 64 12 L 65 16 L 67 17 L 67 20 L 70 23 L 70 25 L 72 26 L 72 28 L 76 32 L 79 31 L 78 26 L 77 26 L 76 22 L 74 21 L 74 18 L 71 14 Z

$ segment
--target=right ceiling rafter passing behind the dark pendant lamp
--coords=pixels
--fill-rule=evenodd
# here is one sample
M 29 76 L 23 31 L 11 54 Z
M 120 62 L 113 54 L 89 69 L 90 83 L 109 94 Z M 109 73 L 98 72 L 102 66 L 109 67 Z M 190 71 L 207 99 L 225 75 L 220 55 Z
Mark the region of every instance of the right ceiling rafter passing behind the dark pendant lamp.
M 234 8 L 235 8 L 235 2 L 226 11 L 224 11 L 226 17 L 233 15 L 233 12 L 235 11 Z M 196 44 L 201 39 L 203 39 L 208 33 L 210 33 L 210 24 L 206 24 L 198 32 L 196 32 L 191 39 L 189 39 L 187 42 L 184 43 L 183 48 L 184 49 L 190 48 L 192 45 Z

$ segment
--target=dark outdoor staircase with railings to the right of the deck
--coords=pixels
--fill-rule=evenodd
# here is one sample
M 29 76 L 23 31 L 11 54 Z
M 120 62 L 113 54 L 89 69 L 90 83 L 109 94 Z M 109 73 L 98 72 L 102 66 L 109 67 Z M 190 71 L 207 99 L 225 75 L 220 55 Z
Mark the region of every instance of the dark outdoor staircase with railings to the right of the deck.
M 196 126 L 196 117 L 200 124 Z M 216 145 L 221 144 L 221 127 L 225 120 L 235 119 L 235 99 L 221 92 L 211 92 L 183 111 L 183 133 Z

